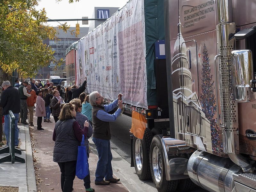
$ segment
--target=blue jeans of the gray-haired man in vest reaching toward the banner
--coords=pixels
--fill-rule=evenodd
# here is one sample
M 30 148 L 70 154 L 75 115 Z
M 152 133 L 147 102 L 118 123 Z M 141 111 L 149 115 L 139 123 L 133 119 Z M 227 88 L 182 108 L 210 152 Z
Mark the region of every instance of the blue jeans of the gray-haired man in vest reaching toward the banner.
M 111 165 L 112 153 L 110 150 L 110 141 L 94 137 L 92 137 L 92 141 L 94 142 L 99 154 L 99 160 L 95 171 L 95 181 L 101 181 L 104 177 L 106 180 L 112 179 L 113 170 Z

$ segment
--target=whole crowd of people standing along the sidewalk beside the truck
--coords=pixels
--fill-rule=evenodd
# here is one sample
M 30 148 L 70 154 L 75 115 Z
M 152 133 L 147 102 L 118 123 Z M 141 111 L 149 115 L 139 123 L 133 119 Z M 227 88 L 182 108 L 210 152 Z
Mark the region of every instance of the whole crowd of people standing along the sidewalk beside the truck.
M 77 148 L 83 135 L 87 150 L 86 161 L 88 162 L 90 155 L 88 141 L 90 137 L 92 137 L 99 154 L 94 183 L 96 185 L 108 185 L 111 182 L 120 181 L 120 179 L 113 177 L 109 122 L 116 121 L 122 112 L 122 94 L 118 94 L 118 98 L 114 102 L 103 105 L 104 99 L 99 92 L 94 91 L 90 95 L 86 95 L 84 92 L 86 84 L 87 79 L 80 87 L 77 85 L 67 87 L 65 93 L 62 92 L 59 85 L 54 89 L 52 82 L 45 86 L 40 80 L 35 81 L 35 79 L 31 79 L 30 83 L 23 81 L 21 84 L 15 80 L 15 88 L 11 86 L 9 81 L 4 81 L 2 84 L 4 91 L 0 106 L 3 108 L 5 122 L 9 122 L 9 110 L 12 110 L 15 116 L 15 147 L 18 147 L 19 144 L 18 121 L 20 124 L 34 126 L 34 106 L 37 130 L 44 130 L 42 127 L 43 118 L 44 122 L 52 123 L 50 121 L 50 114 L 52 113 L 55 121 L 52 136 L 55 141 L 53 161 L 57 162 L 60 167 L 61 190 L 63 192 L 72 191 L 76 176 Z M 116 106 L 118 106 L 116 112 L 112 115 L 108 114 Z M 28 111 L 29 121 L 27 123 Z M 7 123 L 4 128 L 7 144 L 3 147 L 7 147 L 9 145 Z M 90 172 L 83 180 L 87 192 L 95 191 L 91 187 Z

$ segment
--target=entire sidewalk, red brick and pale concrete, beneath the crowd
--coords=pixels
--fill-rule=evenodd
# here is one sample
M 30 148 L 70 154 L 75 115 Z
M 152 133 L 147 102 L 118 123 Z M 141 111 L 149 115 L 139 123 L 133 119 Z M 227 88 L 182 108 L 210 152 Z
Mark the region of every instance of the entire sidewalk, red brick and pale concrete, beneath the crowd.
M 53 118 L 51 118 L 52 121 Z M 41 182 L 38 185 L 38 191 L 48 192 L 54 190 L 55 192 L 61 192 L 60 188 L 60 168 L 57 163 L 52 161 L 54 141 L 52 140 L 52 133 L 55 123 L 44 123 L 42 127 L 44 130 L 36 129 L 36 117 L 34 117 L 34 139 L 36 139 L 34 157 L 37 161 L 35 163 L 35 169 L 37 174 L 41 178 Z M 19 187 L 19 192 L 33 192 L 36 191 L 36 177 L 34 172 L 34 164 L 32 158 L 31 141 L 29 135 L 28 125 L 18 125 L 20 128 L 19 139 L 21 142 L 20 149 L 22 154 L 18 155 L 25 158 L 26 163 L 14 163 L 6 162 L 0 164 L 0 186 Z M 112 191 L 112 192 L 128 192 L 129 190 L 121 183 L 111 183 L 107 186 L 95 185 L 95 170 L 97 166 L 98 157 L 93 153 L 95 152 L 95 145 L 90 140 L 90 146 L 92 146 L 92 152 L 89 158 L 89 169 L 91 176 L 91 187 L 96 192 Z M 0 155 L 0 158 L 8 154 Z M 113 161 L 115 159 L 113 158 Z M 74 191 L 85 191 L 83 180 L 77 177 L 74 180 Z

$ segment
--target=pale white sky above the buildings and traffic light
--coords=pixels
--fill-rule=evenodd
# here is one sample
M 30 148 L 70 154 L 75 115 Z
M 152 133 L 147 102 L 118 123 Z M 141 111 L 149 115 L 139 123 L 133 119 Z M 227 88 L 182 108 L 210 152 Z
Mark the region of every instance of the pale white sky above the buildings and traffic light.
M 123 7 L 128 0 L 79 0 L 73 4 L 69 4 L 68 0 L 57 2 L 55 0 L 41 0 L 36 7 L 37 10 L 45 8 L 46 16 L 49 19 L 82 19 L 82 17 L 92 18 L 94 7 Z M 77 21 L 60 21 L 67 22 L 70 27 L 76 27 Z M 78 21 L 80 27 L 89 27 L 82 25 L 82 21 Z M 57 22 L 48 22 L 47 24 L 56 27 L 60 25 Z

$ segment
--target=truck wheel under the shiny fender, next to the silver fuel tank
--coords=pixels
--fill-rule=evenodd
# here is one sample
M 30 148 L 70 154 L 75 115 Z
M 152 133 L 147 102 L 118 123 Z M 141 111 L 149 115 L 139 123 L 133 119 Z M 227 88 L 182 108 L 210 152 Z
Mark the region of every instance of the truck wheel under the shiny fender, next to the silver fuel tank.
M 165 179 L 164 154 L 161 137 L 155 135 L 150 146 L 150 170 L 153 182 L 159 192 L 173 192 L 176 190 L 178 180 L 168 181 Z

